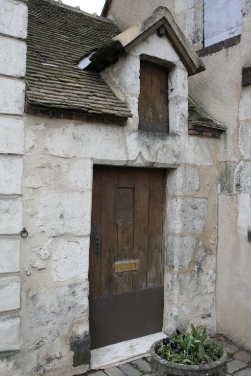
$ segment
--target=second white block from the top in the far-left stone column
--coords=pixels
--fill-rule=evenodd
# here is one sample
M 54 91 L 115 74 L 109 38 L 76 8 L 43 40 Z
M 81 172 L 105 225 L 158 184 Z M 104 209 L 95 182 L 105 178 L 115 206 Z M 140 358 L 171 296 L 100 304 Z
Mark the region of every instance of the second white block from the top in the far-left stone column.
M 0 73 L 24 77 L 26 69 L 26 43 L 0 37 Z

